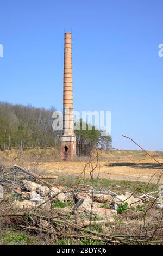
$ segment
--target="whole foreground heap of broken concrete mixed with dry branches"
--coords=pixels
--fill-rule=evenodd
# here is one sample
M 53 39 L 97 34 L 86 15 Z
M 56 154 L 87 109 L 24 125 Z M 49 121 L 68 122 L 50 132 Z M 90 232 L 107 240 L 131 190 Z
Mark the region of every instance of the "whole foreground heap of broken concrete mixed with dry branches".
M 34 215 L 33 229 L 41 228 L 45 232 L 55 228 L 58 222 L 64 229 L 66 225 L 80 229 L 89 227 L 90 223 L 91 226 L 114 223 L 120 206 L 141 208 L 148 197 L 152 196 L 135 195 L 129 191 L 116 194 L 83 184 L 73 188 L 54 186 L 52 182 L 38 180 L 22 169 L 0 167 L 0 202 L 4 205 L 0 216 Z M 160 192 L 156 206 L 162 208 L 162 202 Z

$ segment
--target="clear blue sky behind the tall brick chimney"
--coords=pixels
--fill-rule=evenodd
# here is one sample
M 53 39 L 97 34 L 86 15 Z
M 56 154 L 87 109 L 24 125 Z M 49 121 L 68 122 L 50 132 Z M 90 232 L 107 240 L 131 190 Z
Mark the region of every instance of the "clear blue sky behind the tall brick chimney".
M 111 111 L 114 147 L 163 150 L 162 0 L 1 0 L 1 101 L 62 109 L 72 30 L 74 110 Z

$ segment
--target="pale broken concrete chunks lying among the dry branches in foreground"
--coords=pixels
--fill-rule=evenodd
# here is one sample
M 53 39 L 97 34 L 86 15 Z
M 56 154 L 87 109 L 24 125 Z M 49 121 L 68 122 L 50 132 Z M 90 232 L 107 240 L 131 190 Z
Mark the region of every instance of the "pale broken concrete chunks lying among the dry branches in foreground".
M 35 208 L 41 216 L 66 218 L 80 227 L 87 227 L 90 218 L 93 218 L 92 225 L 104 225 L 115 222 L 116 217 L 120 216 L 120 209 L 127 202 L 128 208 L 136 210 L 138 206 L 145 205 L 146 196 L 153 197 L 150 192 L 137 196 L 129 191 L 124 194 L 116 194 L 110 190 L 93 190 L 87 186 L 77 188 L 57 187 L 41 180 L 34 182 L 35 179 L 26 178 L 22 175 L 11 187 L 14 194 L 11 200 L 11 208 L 17 211 L 33 211 Z M 3 179 L 3 182 L 5 180 Z M 1 184 L 3 184 L 3 182 Z M 119 188 L 119 187 L 118 187 Z M 64 191 L 64 193 L 63 193 Z M 155 202 L 156 208 L 163 208 L 162 192 L 159 190 L 158 199 Z M 5 191 L 6 193 L 6 191 Z M 0 185 L 0 200 L 5 197 L 4 188 Z M 58 194 L 57 196 L 55 196 Z M 51 198 L 51 200 L 49 200 Z M 51 224 L 47 220 L 40 220 L 40 227 L 50 228 Z

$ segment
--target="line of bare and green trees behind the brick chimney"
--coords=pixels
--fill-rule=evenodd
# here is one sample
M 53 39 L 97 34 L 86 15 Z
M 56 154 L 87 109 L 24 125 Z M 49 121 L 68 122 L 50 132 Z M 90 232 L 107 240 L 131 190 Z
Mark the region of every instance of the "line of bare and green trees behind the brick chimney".
M 32 105 L 17 105 L 0 102 L 0 150 L 12 148 L 47 148 L 60 149 L 62 131 L 54 131 L 52 127 L 52 113 L 50 109 L 36 108 Z M 82 125 L 82 120 L 79 120 Z M 92 126 L 92 130 L 75 130 L 77 136 L 77 155 L 88 155 L 99 142 L 99 147 L 108 149 L 112 139 L 101 136 L 101 131 Z

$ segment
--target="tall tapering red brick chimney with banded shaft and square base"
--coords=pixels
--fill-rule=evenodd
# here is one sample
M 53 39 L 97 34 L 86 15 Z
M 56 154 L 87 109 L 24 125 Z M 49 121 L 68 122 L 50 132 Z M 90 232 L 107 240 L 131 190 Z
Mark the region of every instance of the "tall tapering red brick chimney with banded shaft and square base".
M 61 159 L 72 159 L 76 157 L 76 135 L 74 135 L 73 128 L 71 33 L 65 33 L 63 129 L 61 136 Z

